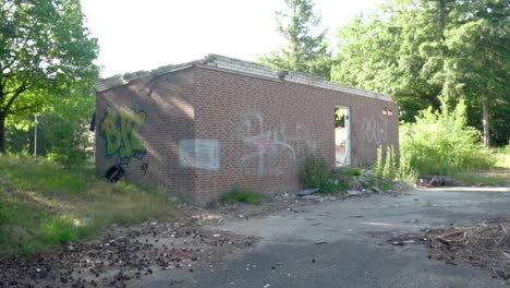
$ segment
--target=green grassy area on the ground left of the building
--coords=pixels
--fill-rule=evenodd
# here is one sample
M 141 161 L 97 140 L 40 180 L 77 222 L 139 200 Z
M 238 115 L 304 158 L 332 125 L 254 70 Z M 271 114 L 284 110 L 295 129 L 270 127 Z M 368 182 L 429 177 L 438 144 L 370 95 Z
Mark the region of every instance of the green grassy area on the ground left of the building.
M 168 217 L 163 193 L 110 183 L 88 164 L 64 169 L 49 160 L 0 156 L 0 251 L 34 253 L 92 237 L 112 224 Z

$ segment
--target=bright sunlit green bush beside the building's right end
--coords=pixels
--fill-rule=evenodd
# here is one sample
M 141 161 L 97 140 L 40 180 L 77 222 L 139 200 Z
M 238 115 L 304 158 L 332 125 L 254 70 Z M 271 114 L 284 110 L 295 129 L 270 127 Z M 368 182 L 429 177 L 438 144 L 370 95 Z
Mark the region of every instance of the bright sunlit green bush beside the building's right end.
M 465 104 L 456 109 L 442 105 L 440 112 L 422 111 L 415 123 L 403 124 L 400 133 L 400 170 L 405 175 L 454 175 L 487 169 L 495 158 L 481 143 L 479 133 L 466 125 Z

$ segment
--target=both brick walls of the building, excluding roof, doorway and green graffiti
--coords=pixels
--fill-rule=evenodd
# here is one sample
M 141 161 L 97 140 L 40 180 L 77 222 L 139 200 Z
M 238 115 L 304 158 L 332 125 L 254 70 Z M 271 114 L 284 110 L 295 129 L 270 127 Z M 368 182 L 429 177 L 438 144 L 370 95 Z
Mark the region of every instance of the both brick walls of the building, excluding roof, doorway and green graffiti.
M 398 151 L 393 103 L 286 81 L 191 68 L 97 96 L 98 169 L 119 161 L 116 155 L 105 157 L 107 141 L 100 125 L 106 106 L 143 110 L 146 118 L 137 137 L 146 154 L 130 158 L 127 180 L 159 185 L 198 203 L 232 187 L 263 192 L 299 189 L 296 164 L 307 152 L 332 166 L 335 106 L 351 108 L 352 164 L 374 161 L 379 144 L 390 143 Z M 384 116 L 384 109 L 393 116 Z M 182 149 L 193 143 L 195 157 L 202 160 L 183 163 L 187 154 Z

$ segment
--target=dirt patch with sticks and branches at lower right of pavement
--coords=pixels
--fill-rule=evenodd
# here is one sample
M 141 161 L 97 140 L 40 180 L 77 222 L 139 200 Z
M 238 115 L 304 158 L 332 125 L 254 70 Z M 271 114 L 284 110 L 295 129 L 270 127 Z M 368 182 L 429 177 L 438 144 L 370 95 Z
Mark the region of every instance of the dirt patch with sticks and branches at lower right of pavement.
M 470 227 L 426 229 L 388 240 L 393 245 L 426 244 L 429 259 L 488 269 L 510 280 L 510 220 L 488 219 Z

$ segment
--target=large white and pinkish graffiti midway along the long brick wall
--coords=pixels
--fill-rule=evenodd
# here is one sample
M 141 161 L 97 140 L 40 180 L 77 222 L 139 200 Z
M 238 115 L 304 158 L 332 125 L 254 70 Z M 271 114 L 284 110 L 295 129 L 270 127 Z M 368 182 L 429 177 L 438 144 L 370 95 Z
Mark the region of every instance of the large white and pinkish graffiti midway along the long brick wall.
M 276 129 L 266 129 L 258 112 L 244 116 L 243 141 L 254 152 L 245 154 L 243 164 L 256 163 L 257 175 L 283 175 L 287 166 L 295 164 L 298 152 L 313 151 L 315 141 L 303 124 L 296 123 L 294 136 L 289 136 L 283 123 Z

